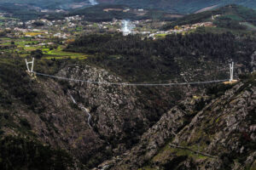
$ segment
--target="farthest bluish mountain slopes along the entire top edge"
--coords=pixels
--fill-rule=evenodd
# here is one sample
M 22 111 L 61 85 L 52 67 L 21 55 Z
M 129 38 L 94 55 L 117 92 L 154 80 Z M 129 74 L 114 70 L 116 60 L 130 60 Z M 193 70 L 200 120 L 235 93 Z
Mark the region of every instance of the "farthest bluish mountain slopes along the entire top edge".
M 234 3 L 249 8 L 256 8 L 254 0 L 0 0 L 3 3 L 19 3 L 38 8 L 80 8 L 97 3 L 122 4 L 131 8 L 156 8 L 173 13 L 191 14 L 211 8 L 217 8 Z

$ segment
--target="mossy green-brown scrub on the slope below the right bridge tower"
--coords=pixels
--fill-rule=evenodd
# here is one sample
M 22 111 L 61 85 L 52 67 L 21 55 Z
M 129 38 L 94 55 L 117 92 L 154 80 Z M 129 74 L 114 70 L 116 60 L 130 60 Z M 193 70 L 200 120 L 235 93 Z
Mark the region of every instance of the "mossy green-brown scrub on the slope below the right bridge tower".
M 238 132 L 238 133 L 232 133 L 228 135 L 228 138 L 226 138 L 230 142 L 239 142 L 243 147 L 245 147 L 247 150 L 243 153 L 237 153 L 236 150 L 230 151 L 229 149 L 223 147 L 221 144 L 216 144 L 217 146 L 212 147 L 210 144 L 212 142 L 212 139 L 216 139 L 216 136 L 221 130 L 223 130 L 223 123 L 226 122 L 227 115 L 234 114 L 235 111 L 226 111 L 227 108 L 230 107 L 233 101 L 239 101 L 241 99 L 242 94 L 247 94 L 248 92 L 252 92 L 253 88 L 255 88 L 256 85 L 256 74 L 246 74 L 242 75 L 241 82 L 242 86 L 238 89 L 232 89 L 230 92 L 236 92 L 234 95 L 229 94 L 225 95 L 224 98 L 217 98 L 216 100 L 213 100 L 214 102 L 210 107 L 207 108 L 207 110 L 203 111 L 204 118 L 201 119 L 201 121 L 197 120 L 196 125 L 189 126 L 183 128 L 183 133 L 178 133 L 175 138 L 177 138 L 175 141 L 178 141 L 178 145 L 182 146 L 183 148 L 176 148 L 170 146 L 172 144 L 172 140 L 168 141 L 164 147 L 162 147 L 158 153 L 153 156 L 151 159 L 149 159 L 140 170 L 147 170 L 147 169 L 187 169 L 186 166 L 184 166 L 184 162 L 189 161 L 189 167 L 192 169 L 195 168 L 203 168 L 206 164 L 197 164 L 197 162 L 209 162 L 209 161 L 215 161 L 215 160 L 224 160 L 224 163 L 222 163 L 222 169 L 231 169 L 231 167 L 236 165 L 243 165 L 247 168 L 245 169 L 253 169 L 255 167 L 255 161 L 252 164 L 244 164 L 244 162 L 247 160 L 247 157 L 249 154 L 253 153 L 253 150 L 255 150 L 255 141 L 249 137 L 249 133 L 246 131 Z M 211 94 L 214 94 L 216 97 L 219 97 L 220 94 L 224 94 L 224 91 L 234 87 L 234 85 L 217 85 L 214 88 L 210 88 Z M 207 92 L 208 93 L 208 92 Z M 209 95 L 209 94 L 208 94 Z M 234 100 L 232 100 L 234 99 Z M 225 106 L 224 106 L 225 105 Z M 229 106 L 226 106 L 229 105 Z M 231 106 L 232 107 L 232 106 Z M 236 107 L 236 106 L 235 106 Z M 225 108 L 225 112 L 224 112 Z M 218 110 L 216 110 L 218 109 Z M 253 125 L 255 122 L 255 114 L 254 110 L 252 109 L 247 116 L 247 120 L 245 122 L 242 122 L 247 125 Z M 237 114 L 237 113 L 236 113 Z M 193 123 L 193 122 L 192 122 Z M 221 140 L 221 139 L 219 139 Z M 213 149 L 212 149 L 213 148 Z M 190 150 L 186 150 L 190 149 Z M 199 151 L 201 153 L 205 153 L 211 156 L 214 156 L 216 158 L 213 158 L 211 156 L 204 156 L 201 154 L 197 154 L 194 151 Z M 209 152 L 209 150 L 211 150 Z M 193 167 L 195 166 L 195 167 Z

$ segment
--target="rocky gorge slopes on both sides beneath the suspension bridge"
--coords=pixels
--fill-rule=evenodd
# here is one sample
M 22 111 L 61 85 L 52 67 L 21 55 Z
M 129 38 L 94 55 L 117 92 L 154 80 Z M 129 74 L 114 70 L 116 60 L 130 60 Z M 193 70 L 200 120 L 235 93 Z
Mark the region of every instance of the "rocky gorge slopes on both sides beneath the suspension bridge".
M 218 98 L 198 100 L 188 92 L 196 91 L 192 86 L 136 88 L 39 75 L 32 80 L 21 69 L 0 66 L 7 72 L 0 74 L 0 81 L 4 80 L 0 147 L 3 139 L 12 136 L 24 140 L 23 151 L 26 144 L 34 144 L 31 141 L 39 143 L 30 153 L 44 146 L 61 149 L 73 158 L 67 169 L 244 169 L 256 165 L 255 75 Z M 56 76 L 123 82 L 106 70 L 81 63 L 64 65 Z M 186 94 L 178 105 L 170 102 L 177 96 L 167 94 L 173 89 L 176 95 Z M 20 139 L 10 138 L 8 144 L 16 141 L 16 149 L 20 148 Z M 67 155 L 62 161 L 69 160 Z

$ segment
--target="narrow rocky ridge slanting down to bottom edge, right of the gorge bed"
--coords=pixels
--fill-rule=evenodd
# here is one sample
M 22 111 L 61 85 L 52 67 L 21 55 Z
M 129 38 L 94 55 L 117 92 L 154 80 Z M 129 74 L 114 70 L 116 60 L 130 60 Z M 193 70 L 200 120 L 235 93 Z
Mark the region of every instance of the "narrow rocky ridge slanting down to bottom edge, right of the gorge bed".
M 166 140 L 172 139 L 185 125 L 187 116 L 189 114 L 177 106 L 172 108 L 143 134 L 135 147 L 125 152 L 123 156 L 114 157 L 112 161 L 108 161 L 108 167 L 112 167 L 111 169 L 136 169 L 143 166 L 145 161 L 153 157 L 160 147 L 166 144 Z M 106 167 L 106 163 L 104 162 L 96 169 Z

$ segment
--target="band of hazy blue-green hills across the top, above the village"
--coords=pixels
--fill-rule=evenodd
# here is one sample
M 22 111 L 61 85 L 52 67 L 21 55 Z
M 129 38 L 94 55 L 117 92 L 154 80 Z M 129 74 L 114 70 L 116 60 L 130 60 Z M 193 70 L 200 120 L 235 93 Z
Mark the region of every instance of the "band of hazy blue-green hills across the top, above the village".
M 185 21 L 193 18 L 193 20 L 208 20 L 211 14 L 223 14 L 225 8 L 223 7 L 232 2 L 229 1 L 99 1 L 97 5 L 91 5 L 89 1 L 18 1 L 13 0 L 9 2 L 0 1 L 0 12 L 12 14 L 14 17 L 21 20 L 34 20 L 40 17 L 53 16 L 63 18 L 67 15 L 85 15 L 88 20 L 93 20 L 95 17 L 96 21 L 99 20 L 113 20 L 117 19 L 131 19 L 131 20 L 175 20 L 175 15 L 182 16 L 187 15 Z M 252 20 L 253 12 L 252 8 L 256 6 L 253 1 L 235 1 L 233 2 L 247 9 L 239 9 L 235 14 L 240 15 L 245 13 L 251 13 L 249 15 L 239 16 L 238 19 L 244 20 L 246 17 L 250 17 L 247 20 Z M 233 8 L 238 6 L 232 5 Z M 219 9 L 220 8 L 220 9 Z M 250 9 L 249 9 L 250 8 Z M 110 9 L 110 10 L 109 10 Z M 230 9 L 229 9 L 230 10 Z M 235 9 L 236 10 L 236 9 Z M 250 11 L 251 10 L 251 11 Z M 233 11 L 234 12 L 234 11 Z M 202 14 L 201 14 L 202 13 Z M 228 12 L 230 13 L 230 12 Z M 242 15 L 241 14 L 241 15 Z M 192 20 L 190 20 L 192 21 Z

